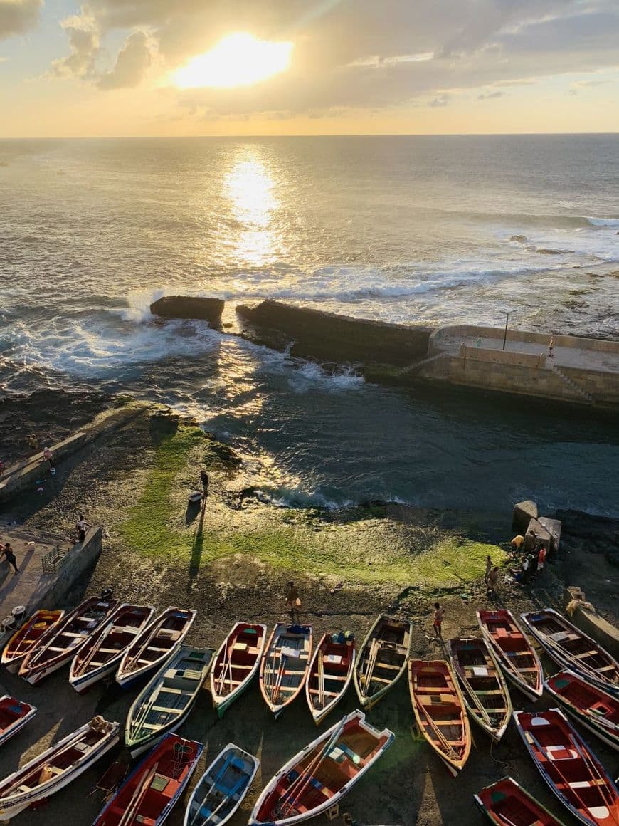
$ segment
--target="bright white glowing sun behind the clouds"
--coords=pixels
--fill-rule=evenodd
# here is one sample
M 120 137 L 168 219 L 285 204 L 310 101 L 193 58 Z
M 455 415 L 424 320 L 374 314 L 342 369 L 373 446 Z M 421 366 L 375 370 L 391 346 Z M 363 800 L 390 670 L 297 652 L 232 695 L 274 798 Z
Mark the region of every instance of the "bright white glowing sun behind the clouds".
M 273 43 L 239 31 L 224 37 L 204 55 L 191 58 L 174 74 L 174 83 L 180 89 L 250 86 L 284 72 L 293 48 L 290 41 Z

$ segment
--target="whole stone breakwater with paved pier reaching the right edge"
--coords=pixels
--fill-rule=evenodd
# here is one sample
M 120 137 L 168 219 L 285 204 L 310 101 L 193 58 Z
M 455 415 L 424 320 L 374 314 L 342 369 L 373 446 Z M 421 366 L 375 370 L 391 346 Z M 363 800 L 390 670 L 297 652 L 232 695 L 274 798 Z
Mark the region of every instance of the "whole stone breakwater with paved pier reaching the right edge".
M 196 299 L 193 316 L 193 299 L 174 301 L 182 306 L 178 317 L 204 318 L 209 299 Z M 223 302 L 212 301 L 217 302 L 212 311 L 223 309 Z M 155 314 L 158 303 L 151 306 Z M 270 300 L 235 309 L 243 338 L 289 349 L 300 358 L 352 365 L 371 382 L 404 387 L 442 382 L 585 406 L 619 406 L 619 341 L 476 325 L 393 325 Z

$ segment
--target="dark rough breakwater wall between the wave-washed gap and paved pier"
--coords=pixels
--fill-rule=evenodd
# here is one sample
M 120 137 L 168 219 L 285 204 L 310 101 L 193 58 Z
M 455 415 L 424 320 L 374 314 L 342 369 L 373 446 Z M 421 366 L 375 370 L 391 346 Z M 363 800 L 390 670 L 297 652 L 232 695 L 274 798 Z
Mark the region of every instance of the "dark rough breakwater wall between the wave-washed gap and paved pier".
M 301 358 L 348 363 L 404 366 L 428 352 L 432 328 L 385 324 L 262 301 L 236 308 L 243 336 L 259 344 L 285 349 Z

